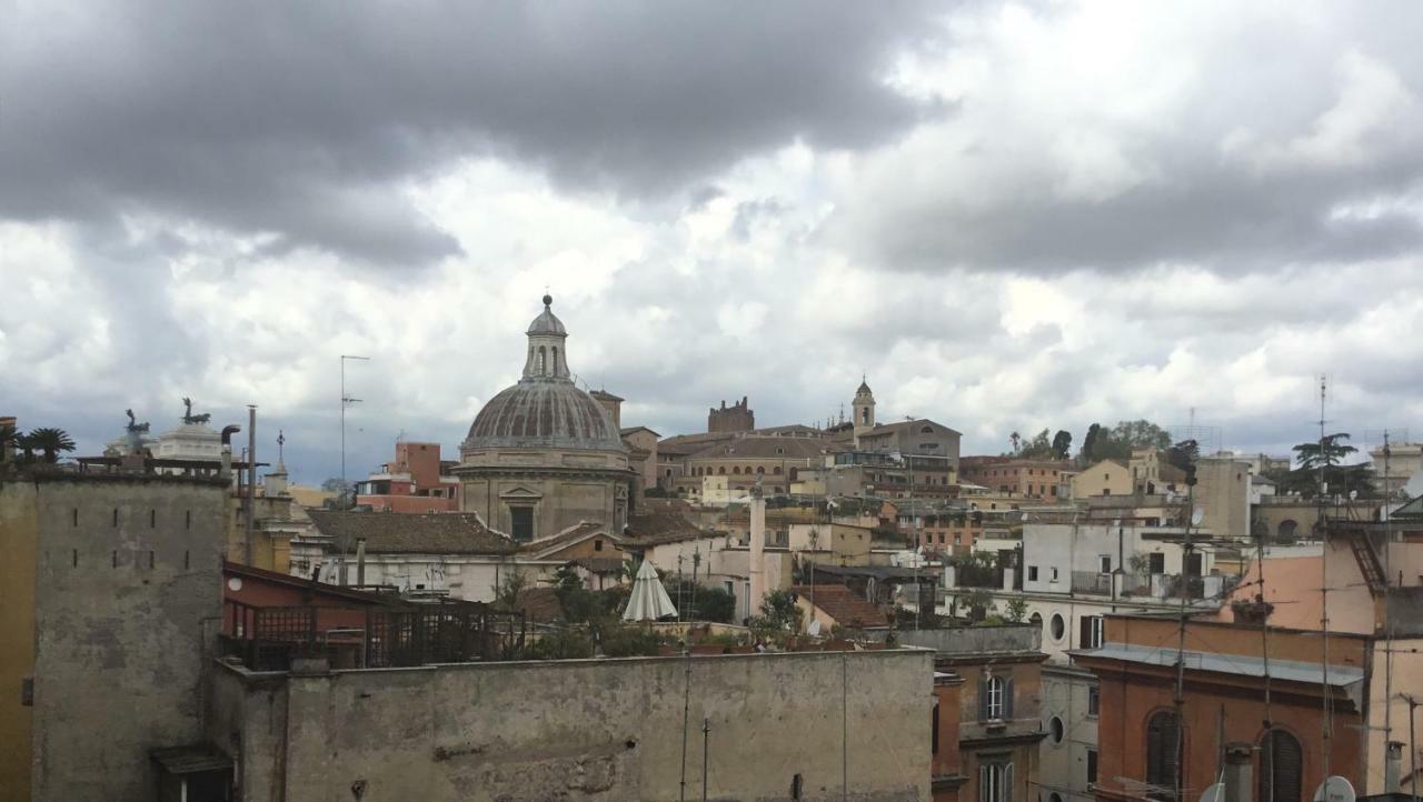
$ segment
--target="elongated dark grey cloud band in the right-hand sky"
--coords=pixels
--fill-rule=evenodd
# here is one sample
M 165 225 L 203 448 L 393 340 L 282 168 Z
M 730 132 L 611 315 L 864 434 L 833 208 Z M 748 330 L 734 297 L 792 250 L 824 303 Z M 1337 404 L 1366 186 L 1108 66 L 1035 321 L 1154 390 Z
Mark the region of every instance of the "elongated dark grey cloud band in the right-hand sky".
M 867 257 L 889 266 L 945 264 L 1030 273 L 1081 267 L 1140 270 L 1160 262 L 1204 263 L 1224 273 L 1278 270 L 1296 263 L 1387 259 L 1423 245 L 1416 215 L 1332 219 L 1348 202 L 1423 186 L 1423 159 L 1392 159 L 1377 169 L 1252 176 L 1212 165 L 1174 165 L 1153 182 L 1100 200 L 1063 200 L 1050 192 L 1003 208 L 966 208 L 926 199 L 875 216 L 857 230 Z

